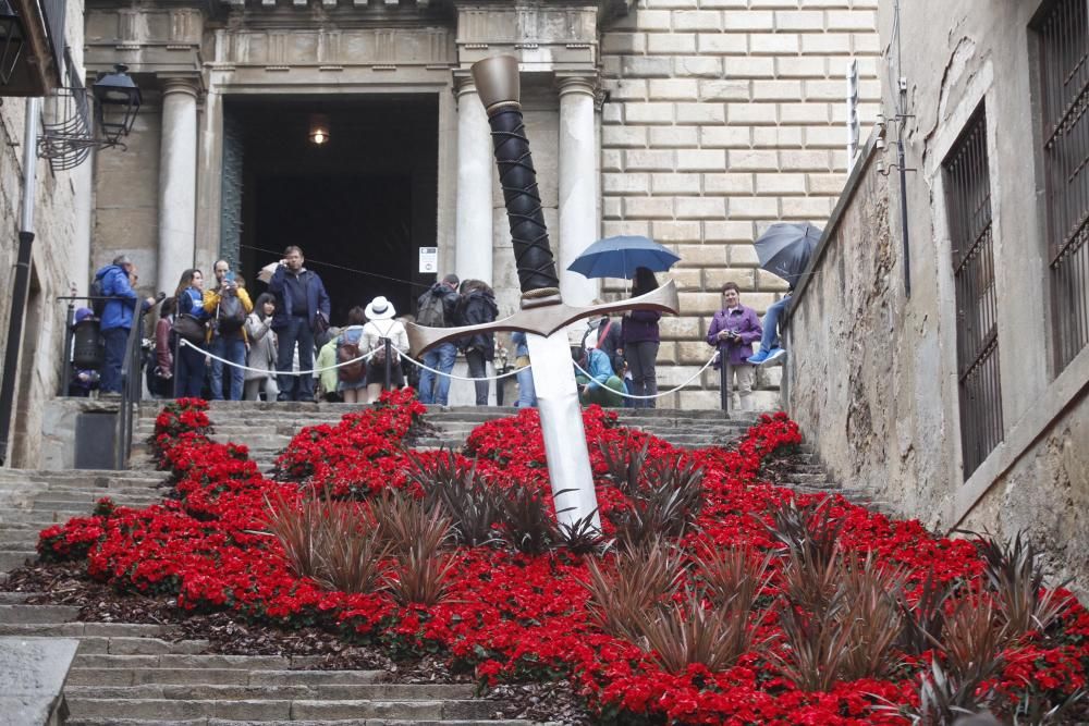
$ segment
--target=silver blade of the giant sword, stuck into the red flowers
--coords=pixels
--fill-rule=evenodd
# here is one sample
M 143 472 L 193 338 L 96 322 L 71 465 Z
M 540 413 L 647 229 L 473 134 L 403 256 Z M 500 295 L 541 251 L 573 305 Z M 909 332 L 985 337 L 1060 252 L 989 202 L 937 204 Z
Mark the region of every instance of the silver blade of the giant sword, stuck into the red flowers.
M 595 528 L 601 531 L 567 334 L 560 331 L 546 337 L 526 333 L 526 342 L 533 362 L 530 370 L 537 391 L 556 519 L 562 525 L 572 526 L 579 519 L 592 517 Z

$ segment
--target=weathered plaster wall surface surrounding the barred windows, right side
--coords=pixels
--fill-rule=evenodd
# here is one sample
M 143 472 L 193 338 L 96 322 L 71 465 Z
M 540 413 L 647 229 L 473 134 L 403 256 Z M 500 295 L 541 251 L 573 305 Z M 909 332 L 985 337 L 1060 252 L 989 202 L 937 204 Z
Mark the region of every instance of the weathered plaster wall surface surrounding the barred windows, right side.
M 787 323 L 788 410 L 832 472 L 904 516 L 943 531 L 1024 530 L 1056 577 L 1089 591 L 1089 348 L 1051 360 L 1049 238 L 1043 223 L 1038 89 L 1029 23 L 1036 3 L 903 7 L 903 130 L 871 144 L 799 286 Z M 882 9 L 882 29 L 893 27 Z M 956 28 L 947 33 L 947 28 Z M 894 47 L 894 38 L 885 38 Z M 907 52 L 906 49 L 910 49 Z M 884 73 L 882 72 L 882 75 Z M 884 89 L 885 108 L 895 108 Z M 965 476 L 958 310 L 942 161 L 987 112 L 1003 440 Z M 1001 119 L 1001 125 L 998 120 Z M 910 295 L 900 221 L 903 134 Z M 876 141 L 876 138 L 873 139 Z

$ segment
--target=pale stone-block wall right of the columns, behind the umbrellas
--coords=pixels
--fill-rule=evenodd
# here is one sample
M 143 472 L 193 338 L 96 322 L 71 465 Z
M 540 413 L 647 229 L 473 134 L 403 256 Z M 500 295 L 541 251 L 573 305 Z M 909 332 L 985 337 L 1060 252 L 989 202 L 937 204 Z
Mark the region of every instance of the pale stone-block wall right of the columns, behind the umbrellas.
M 780 220 L 828 219 L 846 176 L 852 58 L 862 127 L 877 115 L 877 4 L 643 0 L 603 35 L 603 234 L 649 235 L 682 256 L 683 313 L 662 325 L 660 389 L 707 361 L 724 282 L 760 313 L 786 290 L 757 269 L 752 239 Z M 761 379 L 771 389 L 778 371 Z M 718 395 L 708 371 L 660 405 L 710 408 Z M 755 398 L 778 406 L 773 390 Z

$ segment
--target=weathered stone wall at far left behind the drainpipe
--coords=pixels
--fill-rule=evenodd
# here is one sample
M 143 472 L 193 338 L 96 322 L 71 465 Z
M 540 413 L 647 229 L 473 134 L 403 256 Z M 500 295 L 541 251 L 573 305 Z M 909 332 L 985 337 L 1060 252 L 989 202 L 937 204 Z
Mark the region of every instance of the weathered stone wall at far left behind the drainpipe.
M 83 2 L 68 5 L 65 41 L 82 66 Z M 2 90 L 0 90 L 2 93 Z M 8 346 L 11 290 L 15 279 L 19 248 L 20 207 L 23 185 L 23 126 L 25 100 L 3 98 L 0 104 L 0 359 Z M 90 163 L 89 161 L 86 163 Z M 11 466 L 36 466 L 40 450 L 41 411 L 45 401 L 57 393 L 64 340 L 65 305 L 58 295 L 68 295 L 74 285 L 86 291 L 86 247 L 79 243 L 77 206 L 87 204 L 89 187 L 86 168 L 53 172 L 49 162 L 38 160 L 35 195 L 30 292 L 20 345 L 14 415 L 11 428 Z

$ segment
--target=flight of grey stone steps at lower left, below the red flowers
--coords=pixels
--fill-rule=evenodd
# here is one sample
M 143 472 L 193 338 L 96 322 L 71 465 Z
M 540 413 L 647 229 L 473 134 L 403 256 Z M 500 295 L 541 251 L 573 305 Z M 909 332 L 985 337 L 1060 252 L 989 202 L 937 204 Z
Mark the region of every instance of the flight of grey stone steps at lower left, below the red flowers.
M 475 699 L 469 684 L 307 669 L 310 656 L 206 655 L 207 641 L 173 640 L 168 626 L 78 623 L 78 607 L 27 603 L 40 594 L 0 592 L 0 636 L 78 639 L 64 685 L 70 726 L 530 723 L 493 719 L 497 704 Z

